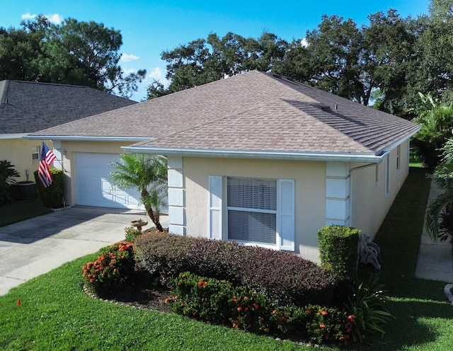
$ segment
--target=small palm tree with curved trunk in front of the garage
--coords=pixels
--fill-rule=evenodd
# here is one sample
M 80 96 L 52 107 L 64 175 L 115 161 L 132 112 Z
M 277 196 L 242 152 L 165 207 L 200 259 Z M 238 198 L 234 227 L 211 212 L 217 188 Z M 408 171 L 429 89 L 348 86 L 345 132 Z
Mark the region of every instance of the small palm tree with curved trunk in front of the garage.
M 113 164 L 115 168 L 110 173 L 112 183 L 121 188 L 136 188 L 156 229 L 164 231 L 159 207 L 165 205 L 167 194 L 167 159 L 163 156 L 122 154 L 120 161 Z

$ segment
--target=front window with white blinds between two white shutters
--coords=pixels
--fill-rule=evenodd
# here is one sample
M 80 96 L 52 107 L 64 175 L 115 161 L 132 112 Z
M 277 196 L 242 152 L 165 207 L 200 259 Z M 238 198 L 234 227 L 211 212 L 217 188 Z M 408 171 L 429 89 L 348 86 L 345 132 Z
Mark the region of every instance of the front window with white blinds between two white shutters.
M 276 244 L 277 180 L 227 178 L 228 238 Z

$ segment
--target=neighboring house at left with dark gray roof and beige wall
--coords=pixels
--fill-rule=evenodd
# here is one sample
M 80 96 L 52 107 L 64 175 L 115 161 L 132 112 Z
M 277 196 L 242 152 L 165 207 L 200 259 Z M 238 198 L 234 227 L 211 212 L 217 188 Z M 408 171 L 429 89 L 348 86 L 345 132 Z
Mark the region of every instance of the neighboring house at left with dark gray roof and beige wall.
M 16 180 L 35 181 L 42 142 L 25 134 L 134 104 L 85 86 L 0 81 L 0 160 L 14 165 L 21 174 Z M 52 148 L 52 141 L 45 143 Z

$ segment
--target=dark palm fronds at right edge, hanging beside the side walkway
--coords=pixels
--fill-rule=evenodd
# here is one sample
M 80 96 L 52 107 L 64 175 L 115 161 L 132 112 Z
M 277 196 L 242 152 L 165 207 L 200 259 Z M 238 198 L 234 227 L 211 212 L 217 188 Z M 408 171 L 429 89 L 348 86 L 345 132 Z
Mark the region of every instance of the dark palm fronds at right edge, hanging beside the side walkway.
M 425 229 L 434 241 L 453 236 L 453 139 L 448 139 L 440 151 L 442 160 L 434 174 L 442 193 L 428 206 L 425 221 Z

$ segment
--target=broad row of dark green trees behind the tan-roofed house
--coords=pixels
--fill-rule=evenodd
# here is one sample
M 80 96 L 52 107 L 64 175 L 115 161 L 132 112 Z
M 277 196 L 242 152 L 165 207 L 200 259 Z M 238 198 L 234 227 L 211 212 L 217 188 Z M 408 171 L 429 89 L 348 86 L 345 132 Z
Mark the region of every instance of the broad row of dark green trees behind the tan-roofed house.
M 147 98 L 258 69 L 413 118 L 418 92 L 440 100 L 453 95 L 452 4 L 432 0 L 429 15 L 417 18 L 379 11 L 362 26 L 325 15 L 316 29 L 292 42 L 269 32 L 259 38 L 210 33 L 161 53 L 170 84 L 154 81 Z

